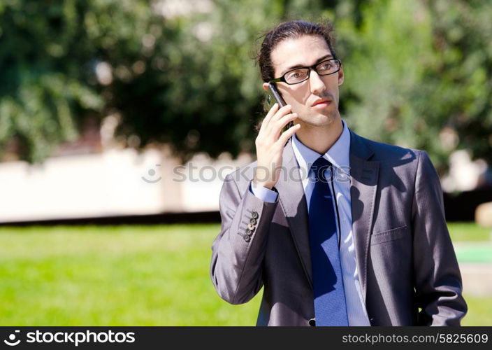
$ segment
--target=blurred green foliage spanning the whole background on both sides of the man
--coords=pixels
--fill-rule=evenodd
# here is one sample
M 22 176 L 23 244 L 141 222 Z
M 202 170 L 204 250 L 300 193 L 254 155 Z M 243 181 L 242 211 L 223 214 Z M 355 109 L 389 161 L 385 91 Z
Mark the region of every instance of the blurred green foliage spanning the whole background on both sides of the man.
M 3 1 L 0 149 L 17 137 L 22 158 L 41 160 L 87 116 L 111 113 L 122 139 L 138 137 L 129 146 L 168 142 L 183 160 L 254 152 L 261 34 L 324 15 L 335 22 L 342 114 L 354 131 L 426 149 L 440 172 L 460 148 L 492 162 L 490 1 L 182 3 L 173 14 L 161 1 Z

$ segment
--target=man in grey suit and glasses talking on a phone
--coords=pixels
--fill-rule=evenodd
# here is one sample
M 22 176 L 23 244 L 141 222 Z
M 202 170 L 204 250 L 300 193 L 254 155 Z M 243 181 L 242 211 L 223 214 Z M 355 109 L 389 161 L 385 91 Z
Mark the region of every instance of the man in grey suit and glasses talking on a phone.
M 331 30 L 290 21 L 263 39 L 263 88 L 275 83 L 287 106 L 263 119 L 257 161 L 224 181 L 215 289 L 241 304 L 263 286 L 257 325 L 460 325 L 435 169 L 424 151 L 348 129 Z

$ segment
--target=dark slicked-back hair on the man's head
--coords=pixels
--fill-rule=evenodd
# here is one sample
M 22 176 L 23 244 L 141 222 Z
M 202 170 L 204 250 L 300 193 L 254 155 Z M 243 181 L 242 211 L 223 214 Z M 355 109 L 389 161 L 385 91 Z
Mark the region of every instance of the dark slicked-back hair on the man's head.
M 275 76 L 273 76 L 273 64 L 271 58 L 275 46 L 287 38 L 298 38 L 304 35 L 322 36 L 326 41 L 326 44 L 328 44 L 328 48 L 330 49 L 333 58 L 337 58 L 335 50 L 333 50 L 333 45 L 335 43 L 335 38 L 333 37 L 333 25 L 328 20 L 323 20 L 319 23 L 301 20 L 282 22 L 265 34 L 259 53 L 256 55 L 256 61 L 260 66 L 261 79 L 263 79 L 264 82 L 268 82 L 275 78 Z

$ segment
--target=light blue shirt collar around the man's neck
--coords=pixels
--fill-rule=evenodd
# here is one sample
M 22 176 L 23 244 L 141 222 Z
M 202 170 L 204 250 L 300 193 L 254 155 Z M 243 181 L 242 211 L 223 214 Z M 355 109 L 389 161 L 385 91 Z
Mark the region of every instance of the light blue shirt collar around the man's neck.
M 348 169 L 350 166 L 350 132 L 347 124 L 342 120 L 343 130 L 335 144 L 323 155 L 334 167 Z M 321 154 L 313 151 L 305 146 L 294 134 L 292 137 L 292 148 L 299 167 L 303 170 L 303 174 L 308 174 L 311 165 L 316 161 Z

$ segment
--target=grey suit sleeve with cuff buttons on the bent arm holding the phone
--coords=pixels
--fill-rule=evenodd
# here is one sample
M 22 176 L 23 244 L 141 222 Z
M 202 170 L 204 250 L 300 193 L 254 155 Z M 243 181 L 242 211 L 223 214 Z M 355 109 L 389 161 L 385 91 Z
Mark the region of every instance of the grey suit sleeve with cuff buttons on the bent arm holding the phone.
M 263 258 L 278 202 L 263 202 L 249 185 L 240 193 L 233 177 L 226 176 L 219 199 L 221 231 L 212 244 L 212 283 L 231 304 L 248 302 L 263 286 Z

